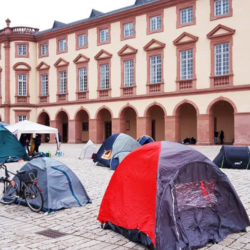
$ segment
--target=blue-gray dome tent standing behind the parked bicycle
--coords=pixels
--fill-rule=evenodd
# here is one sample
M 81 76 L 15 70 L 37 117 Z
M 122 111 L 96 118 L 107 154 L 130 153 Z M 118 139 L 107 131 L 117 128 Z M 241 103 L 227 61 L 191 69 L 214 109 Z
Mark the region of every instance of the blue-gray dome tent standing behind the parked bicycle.
M 44 196 L 44 211 L 82 206 L 91 202 L 78 177 L 60 161 L 46 157 L 36 158 L 21 168 L 30 169 L 38 171 L 38 186 Z

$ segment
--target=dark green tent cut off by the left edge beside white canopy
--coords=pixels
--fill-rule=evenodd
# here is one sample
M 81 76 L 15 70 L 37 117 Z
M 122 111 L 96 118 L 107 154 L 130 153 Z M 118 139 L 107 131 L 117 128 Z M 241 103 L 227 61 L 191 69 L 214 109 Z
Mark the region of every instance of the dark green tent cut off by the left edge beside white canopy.
M 0 162 L 4 162 L 8 157 L 13 157 L 15 160 L 29 159 L 24 147 L 16 137 L 9 130 L 0 126 Z

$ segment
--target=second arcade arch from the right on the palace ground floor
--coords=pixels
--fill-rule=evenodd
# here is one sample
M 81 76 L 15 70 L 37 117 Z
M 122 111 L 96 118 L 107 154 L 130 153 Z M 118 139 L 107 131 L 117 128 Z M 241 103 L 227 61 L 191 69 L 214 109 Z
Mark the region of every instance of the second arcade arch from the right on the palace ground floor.
M 193 102 L 184 100 L 174 109 L 176 119 L 176 141 L 182 142 L 186 138 L 197 140 L 197 115 L 199 109 Z

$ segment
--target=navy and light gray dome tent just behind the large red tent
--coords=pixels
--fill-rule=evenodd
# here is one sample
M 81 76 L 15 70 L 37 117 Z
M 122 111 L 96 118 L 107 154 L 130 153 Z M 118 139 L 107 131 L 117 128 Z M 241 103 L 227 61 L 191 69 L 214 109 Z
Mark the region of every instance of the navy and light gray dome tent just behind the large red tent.
M 113 134 L 103 142 L 93 161 L 115 170 L 130 152 L 140 146 L 140 143 L 129 135 Z

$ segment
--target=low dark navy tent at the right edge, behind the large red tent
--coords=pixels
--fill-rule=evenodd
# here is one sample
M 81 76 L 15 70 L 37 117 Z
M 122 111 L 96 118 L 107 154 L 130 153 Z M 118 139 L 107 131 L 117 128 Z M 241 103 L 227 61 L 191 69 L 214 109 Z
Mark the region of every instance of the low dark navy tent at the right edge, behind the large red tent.
M 250 170 L 250 151 L 248 147 L 222 146 L 213 162 L 219 168 Z

